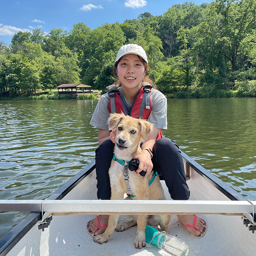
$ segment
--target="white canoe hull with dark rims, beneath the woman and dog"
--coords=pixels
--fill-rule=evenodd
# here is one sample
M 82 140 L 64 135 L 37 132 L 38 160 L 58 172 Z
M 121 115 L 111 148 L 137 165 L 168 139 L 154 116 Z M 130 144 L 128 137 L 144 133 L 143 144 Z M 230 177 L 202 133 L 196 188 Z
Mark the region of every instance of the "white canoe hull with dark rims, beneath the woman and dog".
M 182 152 L 187 181 L 191 191 L 190 200 L 245 201 L 235 190 L 223 183 Z M 162 182 L 166 199 L 171 200 Z M 96 200 L 95 162 L 49 196 L 50 200 Z M 169 233 L 185 240 L 190 246 L 191 256 L 249 256 L 256 249 L 256 234 L 242 223 L 239 216 L 199 215 L 207 221 L 206 235 L 197 239 L 189 234 L 172 215 Z M 155 245 L 135 249 L 133 242 L 137 228 L 114 232 L 108 243 L 96 244 L 86 232 L 86 224 L 93 215 L 54 216 L 48 228 L 38 230 L 40 212 L 30 212 L 0 240 L 0 256 L 150 256 L 164 255 Z M 121 220 L 127 217 L 122 216 Z

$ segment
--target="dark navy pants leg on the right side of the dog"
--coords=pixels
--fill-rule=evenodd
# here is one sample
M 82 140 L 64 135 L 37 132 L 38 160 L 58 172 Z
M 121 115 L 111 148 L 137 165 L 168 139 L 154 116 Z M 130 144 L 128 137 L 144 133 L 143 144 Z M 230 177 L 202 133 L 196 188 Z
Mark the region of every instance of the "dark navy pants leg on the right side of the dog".
M 154 170 L 162 175 L 171 198 L 188 200 L 190 192 L 178 145 L 168 138 L 157 140 L 153 147 L 152 162 Z

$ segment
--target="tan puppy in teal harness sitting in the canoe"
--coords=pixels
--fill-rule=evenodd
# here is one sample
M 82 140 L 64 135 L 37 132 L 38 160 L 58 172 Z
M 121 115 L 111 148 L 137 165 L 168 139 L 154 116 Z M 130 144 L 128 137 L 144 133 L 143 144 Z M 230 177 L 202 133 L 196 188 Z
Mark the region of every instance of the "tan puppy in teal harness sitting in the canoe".
M 111 114 L 108 119 L 109 130 L 116 130 L 116 145 L 114 148 L 114 156 L 123 161 L 131 161 L 135 156 L 141 154 L 141 143 L 148 137 L 153 130 L 153 125 L 143 119 L 136 119 L 124 114 Z M 124 166 L 112 160 L 109 169 L 109 177 L 111 184 L 111 200 L 123 200 L 124 194 L 128 193 L 127 186 L 123 177 Z M 166 200 L 160 179 L 155 176 L 154 181 L 149 186 L 149 182 L 154 175 L 151 172 L 145 177 L 139 176 L 136 172 L 128 171 L 129 185 L 135 197 L 132 199 L 138 200 Z M 117 226 L 119 215 L 110 215 L 108 220 L 108 227 L 101 235 L 95 236 L 94 241 L 102 244 L 107 242 L 116 231 L 123 231 L 128 227 L 137 226 L 137 235 L 134 241 L 136 248 L 145 247 L 145 228 L 147 215 L 138 215 L 138 218 L 130 216 L 131 221 L 120 223 Z M 168 224 L 170 215 L 160 215 L 160 230 L 168 233 Z M 117 227 L 116 227 L 117 226 Z

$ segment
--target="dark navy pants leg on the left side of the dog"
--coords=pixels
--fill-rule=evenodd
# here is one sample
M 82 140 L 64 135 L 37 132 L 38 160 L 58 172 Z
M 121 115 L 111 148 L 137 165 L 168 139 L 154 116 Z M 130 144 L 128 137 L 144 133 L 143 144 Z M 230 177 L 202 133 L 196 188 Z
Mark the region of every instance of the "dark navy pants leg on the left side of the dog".
M 111 198 L 111 187 L 108 170 L 113 158 L 115 144 L 111 140 L 105 140 L 95 151 L 96 175 L 97 175 L 97 196 L 102 200 Z

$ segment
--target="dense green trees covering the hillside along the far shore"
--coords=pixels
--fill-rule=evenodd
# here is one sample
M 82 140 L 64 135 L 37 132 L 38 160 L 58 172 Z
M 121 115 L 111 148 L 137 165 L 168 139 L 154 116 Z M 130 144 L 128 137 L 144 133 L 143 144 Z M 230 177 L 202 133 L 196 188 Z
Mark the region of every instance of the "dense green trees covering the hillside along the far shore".
M 32 95 L 76 82 L 105 92 L 118 49 L 133 43 L 145 49 L 149 76 L 166 95 L 256 96 L 255 17 L 255 0 L 215 0 L 93 30 L 77 23 L 69 32 L 17 32 L 9 46 L 0 41 L 0 94 Z

